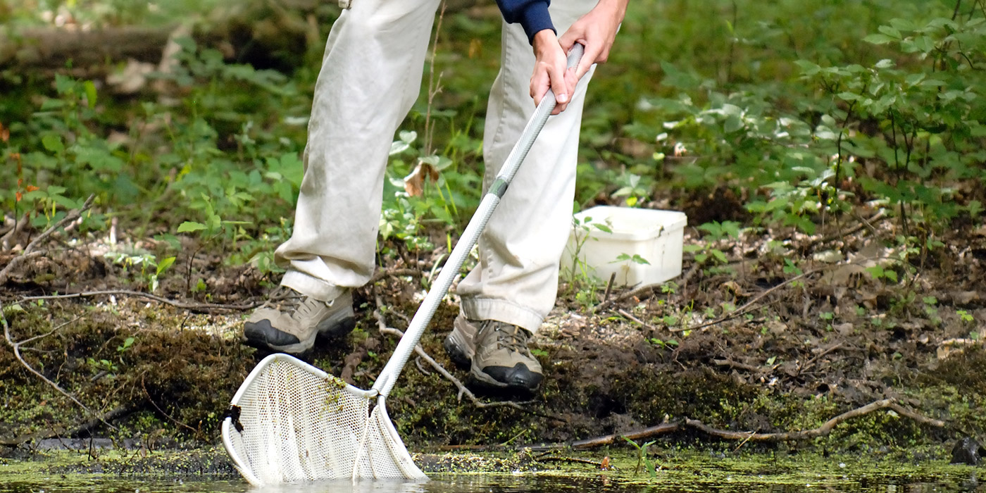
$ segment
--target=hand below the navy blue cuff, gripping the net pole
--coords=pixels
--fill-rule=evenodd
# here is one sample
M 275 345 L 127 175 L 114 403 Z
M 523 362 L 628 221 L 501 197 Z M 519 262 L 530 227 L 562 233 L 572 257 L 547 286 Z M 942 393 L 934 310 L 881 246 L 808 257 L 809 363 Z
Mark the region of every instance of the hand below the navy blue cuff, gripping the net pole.
M 567 51 L 561 48 L 553 31 L 537 32 L 532 44 L 535 61 L 534 73 L 530 76 L 530 97 L 534 99 L 536 106 L 550 89 L 554 92 L 557 103 L 551 114 L 558 114 L 568 106 L 572 94 L 575 93 L 575 83 L 579 80 L 575 77 L 574 70 L 566 70 Z

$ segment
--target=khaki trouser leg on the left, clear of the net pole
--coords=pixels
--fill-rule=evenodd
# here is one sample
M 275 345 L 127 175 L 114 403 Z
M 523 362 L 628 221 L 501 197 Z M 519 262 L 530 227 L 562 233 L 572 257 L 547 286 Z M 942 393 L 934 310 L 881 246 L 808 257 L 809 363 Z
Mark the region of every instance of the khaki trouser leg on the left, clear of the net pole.
M 439 0 L 354 0 L 332 26 L 315 89 L 281 283 L 321 300 L 373 274 L 390 142 L 418 97 Z

